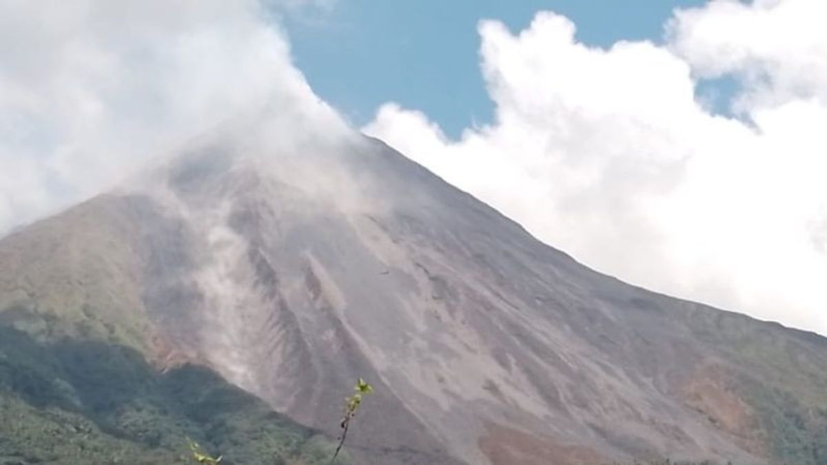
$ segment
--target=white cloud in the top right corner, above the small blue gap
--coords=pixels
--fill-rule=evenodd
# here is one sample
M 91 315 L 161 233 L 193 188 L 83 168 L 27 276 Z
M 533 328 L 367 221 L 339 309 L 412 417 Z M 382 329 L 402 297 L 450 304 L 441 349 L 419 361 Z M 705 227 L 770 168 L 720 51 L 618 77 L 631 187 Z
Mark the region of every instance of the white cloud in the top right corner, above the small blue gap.
M 827 103 L 827 2 L 717 1 L 676 13 L 672 49 L 700 77 L 735 74 L 747 84 L 745 109 L 793 98 Z

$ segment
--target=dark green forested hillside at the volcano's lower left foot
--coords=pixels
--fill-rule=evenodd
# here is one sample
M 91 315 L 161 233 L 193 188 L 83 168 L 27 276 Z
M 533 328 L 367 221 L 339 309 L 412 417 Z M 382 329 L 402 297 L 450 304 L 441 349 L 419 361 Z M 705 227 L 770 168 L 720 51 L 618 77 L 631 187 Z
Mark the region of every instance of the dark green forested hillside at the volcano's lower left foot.
M 155 371 L 124 346 L 0 325 L 0 465 L 328 463 L 335 444 L 203 367 Z M 344 458 L 339 458 L 346 463 Z

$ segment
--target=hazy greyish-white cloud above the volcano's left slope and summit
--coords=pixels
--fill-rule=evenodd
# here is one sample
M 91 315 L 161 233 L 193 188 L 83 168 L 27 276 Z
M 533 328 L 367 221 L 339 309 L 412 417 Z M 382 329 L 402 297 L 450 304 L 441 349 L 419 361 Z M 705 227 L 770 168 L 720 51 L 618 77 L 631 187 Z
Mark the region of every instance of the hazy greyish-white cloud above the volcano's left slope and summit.
M 261 102 L 336 119 L 268 20 L 331 1 L 0 0 L 0 233 Z

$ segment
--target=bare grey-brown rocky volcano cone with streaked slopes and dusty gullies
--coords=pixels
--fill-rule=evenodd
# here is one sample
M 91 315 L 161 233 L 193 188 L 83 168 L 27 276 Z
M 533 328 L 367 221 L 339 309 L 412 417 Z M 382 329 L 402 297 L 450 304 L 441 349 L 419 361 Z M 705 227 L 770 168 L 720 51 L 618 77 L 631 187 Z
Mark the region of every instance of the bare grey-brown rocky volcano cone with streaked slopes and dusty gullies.
M 207 367 L 331 437 L 364 377 L 370 465 L 827 463 L 827 339 L 591 271 L 380 141 L 261 140 L 3 238 L 2 324 Z

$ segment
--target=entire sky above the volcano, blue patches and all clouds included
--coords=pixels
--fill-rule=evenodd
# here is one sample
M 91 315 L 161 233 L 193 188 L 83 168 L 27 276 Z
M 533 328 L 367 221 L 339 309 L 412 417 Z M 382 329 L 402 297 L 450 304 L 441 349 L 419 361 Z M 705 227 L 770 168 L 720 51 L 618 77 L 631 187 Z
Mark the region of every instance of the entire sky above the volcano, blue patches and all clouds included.
M 267 101 L 284 134 L 380 137 L 597 270 L 827 334 L 824 17 L 823 0 L 0 0 L 0 234 Z

